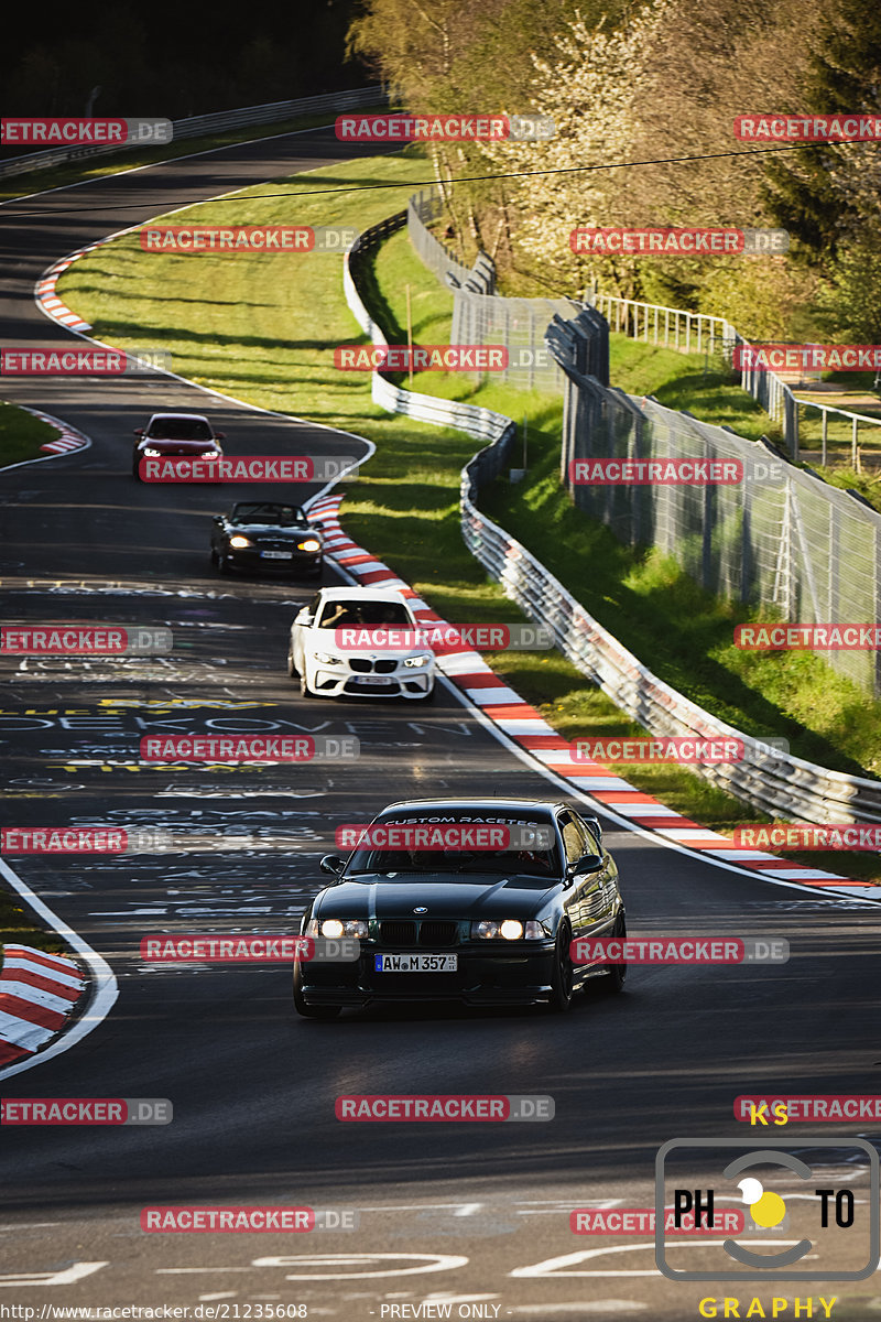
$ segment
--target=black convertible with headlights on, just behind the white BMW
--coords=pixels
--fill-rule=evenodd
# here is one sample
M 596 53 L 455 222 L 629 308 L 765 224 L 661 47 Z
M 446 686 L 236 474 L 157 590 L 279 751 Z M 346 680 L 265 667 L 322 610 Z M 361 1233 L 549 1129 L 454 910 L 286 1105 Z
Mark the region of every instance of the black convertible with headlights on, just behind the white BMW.
M 321 530 L 299 505 L 238 501 L 229 514 L 214 516 L 211 564 L 221 574 L 235 567 L 318 575 L 322 563 Z

